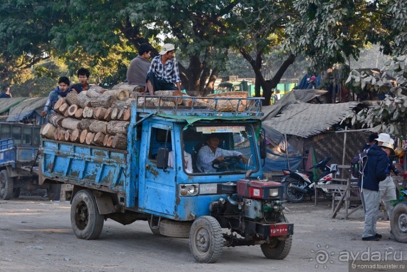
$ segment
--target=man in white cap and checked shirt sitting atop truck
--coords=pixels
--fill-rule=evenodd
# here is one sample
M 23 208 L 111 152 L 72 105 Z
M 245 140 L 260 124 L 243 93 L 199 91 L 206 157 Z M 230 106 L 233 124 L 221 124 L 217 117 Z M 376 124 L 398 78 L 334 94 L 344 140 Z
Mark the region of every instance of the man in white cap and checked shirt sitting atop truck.
M 152 60 L 146 79 L 147 90 L 150 94 L 154 94 L 158 90 L 181 91 L 180 70 L 174 53 L 174 45 L 166 43 L 162 46 L 159 55 Z

